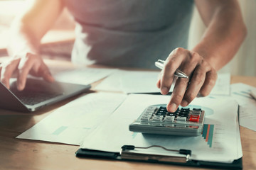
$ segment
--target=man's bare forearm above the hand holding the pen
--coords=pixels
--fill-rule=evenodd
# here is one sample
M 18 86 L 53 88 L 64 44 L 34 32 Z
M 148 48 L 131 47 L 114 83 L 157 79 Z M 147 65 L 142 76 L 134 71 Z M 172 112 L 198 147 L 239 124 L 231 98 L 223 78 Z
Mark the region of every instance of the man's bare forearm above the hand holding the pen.
M 232 60 L 245 39 L 245 24 L 236 10 L 225 6 L 218 8 L 201 41 L 193 48 L 216 70 Z

